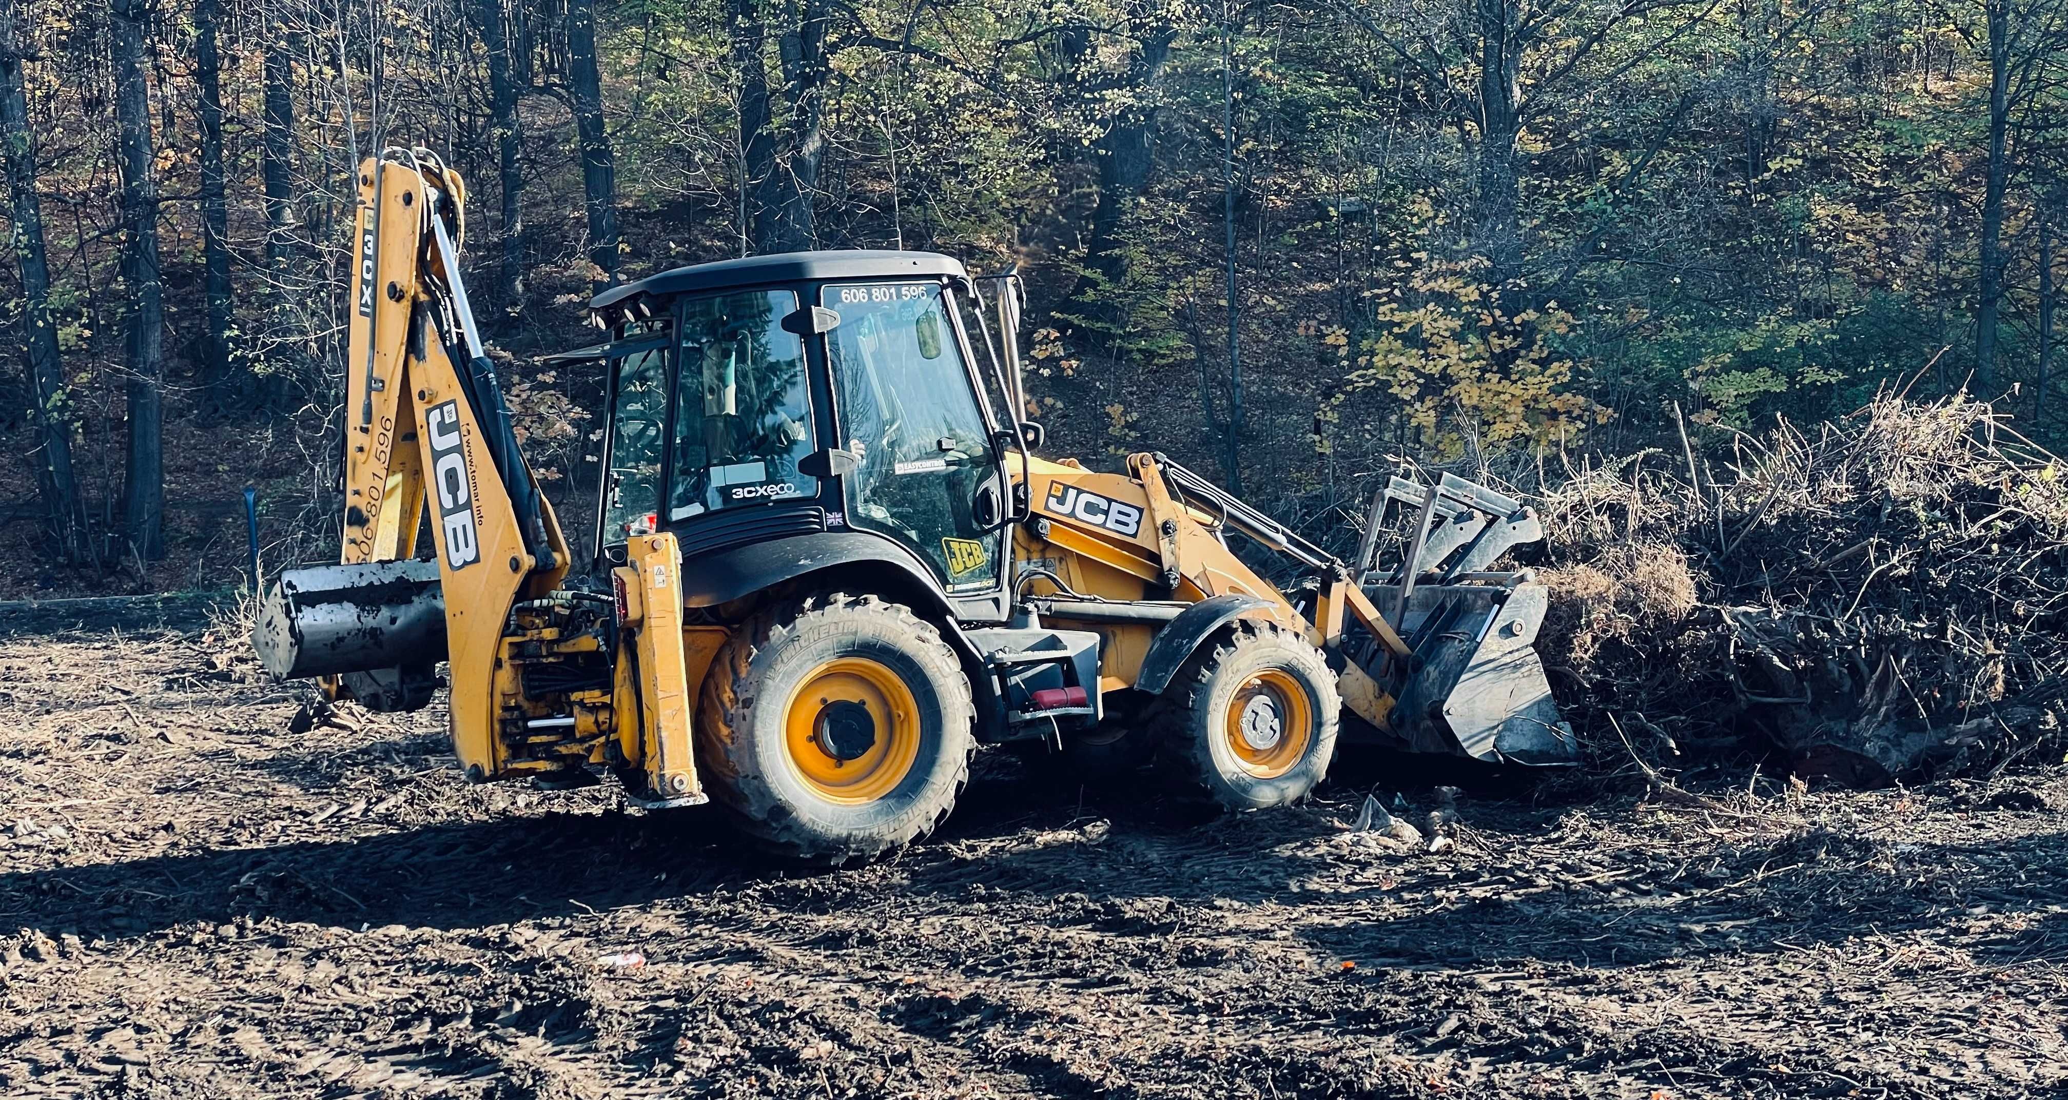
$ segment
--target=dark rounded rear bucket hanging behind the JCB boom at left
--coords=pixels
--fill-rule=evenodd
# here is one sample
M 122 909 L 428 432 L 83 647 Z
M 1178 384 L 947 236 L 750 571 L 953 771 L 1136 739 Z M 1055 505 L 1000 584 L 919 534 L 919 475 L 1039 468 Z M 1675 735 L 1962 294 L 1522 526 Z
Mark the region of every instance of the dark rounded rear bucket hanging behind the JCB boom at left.
M 341 676 L 368 709 L 418 709 L 445 660 L 438 562 L 287 569 L 258 604 L 252 649 L 283 680 Z

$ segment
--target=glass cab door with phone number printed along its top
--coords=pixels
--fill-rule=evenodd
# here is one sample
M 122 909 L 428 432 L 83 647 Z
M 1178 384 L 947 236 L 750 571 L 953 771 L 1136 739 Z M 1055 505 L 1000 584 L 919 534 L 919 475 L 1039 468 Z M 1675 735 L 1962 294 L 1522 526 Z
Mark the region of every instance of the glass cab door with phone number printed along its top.
M 1005 581 L 1003 478 L 964 341 L 935 281 L 829 283 L 825 337 L 848 525 L 924 560 L 949 598 L 995 598 Z M 986 618 L 1003 608 L 986 600 Z M 976 610 L 976 608 L 970 608 Z

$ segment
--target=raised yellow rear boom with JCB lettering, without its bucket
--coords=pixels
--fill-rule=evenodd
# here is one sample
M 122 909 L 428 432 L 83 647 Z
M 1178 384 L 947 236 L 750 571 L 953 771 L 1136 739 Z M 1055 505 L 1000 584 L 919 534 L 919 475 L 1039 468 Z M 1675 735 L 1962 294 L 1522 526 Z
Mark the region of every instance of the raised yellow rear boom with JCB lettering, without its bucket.
M 498 653 L 519 598 L 567 573 L 567 542 L 517 451 L 465 285 L 459 176 L 426 151 L 360 165 L 345 374 L 345 564 L 409 558 L 426 498 L 451 662 L 453 751 L 505 771 Z M 428 664 L 428 662 L 426 662 Z M 325 680 L 335 697 L 356 676 Z

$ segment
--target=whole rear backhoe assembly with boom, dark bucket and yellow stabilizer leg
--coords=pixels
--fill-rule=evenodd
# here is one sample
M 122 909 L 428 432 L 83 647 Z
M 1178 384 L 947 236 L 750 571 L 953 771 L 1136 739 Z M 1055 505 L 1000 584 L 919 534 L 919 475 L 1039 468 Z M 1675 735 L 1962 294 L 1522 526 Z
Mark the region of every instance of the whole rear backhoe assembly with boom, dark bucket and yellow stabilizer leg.
M 459 277 L 463 196 L 422 149 L 360 165 L 341 564 L 283 571 L 252 643 L 273 674 L 321 676 L 329 699 L 383 711 L 426 705 L 449 660 L 469 780 L 608 765 L 643 775 L 633 798 L 647 806 L 701 802 L 680 548 L 641 540 L 614 598 L 562 587 L 567 540 Z M 426 513 L 432 554 L 416 560 Z

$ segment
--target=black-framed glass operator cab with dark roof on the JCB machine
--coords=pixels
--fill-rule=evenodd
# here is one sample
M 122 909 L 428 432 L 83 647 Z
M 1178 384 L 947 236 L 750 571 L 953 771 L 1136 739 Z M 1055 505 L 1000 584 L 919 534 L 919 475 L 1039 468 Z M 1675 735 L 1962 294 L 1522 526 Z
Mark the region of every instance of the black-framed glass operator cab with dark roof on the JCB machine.
M 1015 277 L 935 252 L 784 252 L 664 271 L 589 310 L 612 341 L 554 360 L 610 370 L 598 569 L 639 533 L 672 531 L 693 558 L 854 531 L 957 616 L 1007 616 L 1024 502 L 1005 457 L 1038 432 L 1009 416 Z

